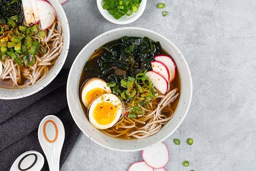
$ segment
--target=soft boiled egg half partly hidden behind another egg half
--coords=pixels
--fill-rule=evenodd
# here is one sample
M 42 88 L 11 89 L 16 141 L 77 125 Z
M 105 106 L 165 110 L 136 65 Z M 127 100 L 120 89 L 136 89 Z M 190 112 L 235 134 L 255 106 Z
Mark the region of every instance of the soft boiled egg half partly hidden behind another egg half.
M 93 100 L 106 93 L 111 93 L 107 83 L 100 78 L 91 78 L 82 87 L 81 99 L 84 106 L 88 108 Z

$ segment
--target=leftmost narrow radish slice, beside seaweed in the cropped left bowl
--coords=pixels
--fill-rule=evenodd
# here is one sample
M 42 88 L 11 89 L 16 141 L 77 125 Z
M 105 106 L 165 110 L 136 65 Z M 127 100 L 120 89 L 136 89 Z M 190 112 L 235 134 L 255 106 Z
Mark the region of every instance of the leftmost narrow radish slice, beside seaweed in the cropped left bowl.
M 34 12 L 32 9 L 32 0 L 22 0 L 22 7 L 24 11 L 24 17 L 26 26 L 33 26 L 35 24 Z

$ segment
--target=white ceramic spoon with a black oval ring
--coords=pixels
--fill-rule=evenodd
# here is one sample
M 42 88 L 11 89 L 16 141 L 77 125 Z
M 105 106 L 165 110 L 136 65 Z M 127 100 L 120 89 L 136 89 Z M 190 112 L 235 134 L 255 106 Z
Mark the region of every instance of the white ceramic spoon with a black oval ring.
M 44 157 L 38 151 L 26 151 L 12 164 L 10 171 L 41 171 Z

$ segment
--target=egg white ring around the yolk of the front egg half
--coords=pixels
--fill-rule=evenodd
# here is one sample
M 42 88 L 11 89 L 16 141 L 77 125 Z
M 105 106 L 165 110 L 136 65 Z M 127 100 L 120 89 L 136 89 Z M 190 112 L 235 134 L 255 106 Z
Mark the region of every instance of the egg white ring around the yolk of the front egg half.
M 116 106 L 116 117 L 110 124 L 107 124 L 107 125 L 100 125 L 99 123 L 96 122 L 96 120 L 93 117 L 94 108 L 96 107 L 97 104 L 102 103 L 102 102 L 111 103 L 112 105 Z M 116 95 L 102 94 L 101 96 L 97 97 L 96 100 L 94 100 L 93 103 L 91 104 L 90 109 L 89 109 L 89 120 L 90 120 L 90 123 L 95 128 L 108 129 L 116 124 L 116 122 L 119 120 L 119 118 L 122 115 L 122 111 L 123 111 L 122 102 Z

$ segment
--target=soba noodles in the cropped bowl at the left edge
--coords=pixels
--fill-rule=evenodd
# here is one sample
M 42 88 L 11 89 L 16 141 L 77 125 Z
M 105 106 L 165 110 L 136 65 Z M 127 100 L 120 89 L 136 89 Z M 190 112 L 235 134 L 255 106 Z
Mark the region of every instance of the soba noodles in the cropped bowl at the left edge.
M 40 24 L 38 24 L 38 28 L 40 28 Z M 26 66 L 24 63 L 24 65 L 20 67 L 13 59 L 2 61 L 3 72 L 0 75 L 0 80 L 11 79 L 13 83 L 5 87 L 24 88 L 44 79 L 49 69 L 60 56 L 63 48 L 63 33 L 60 22 L 55 20 L 52 26 L 47 28 L 45 37 L 41 39 L 32 37 L 32 39 L 41 43 L 45 48 L 45 52 L 35 55 L 35 63 L 33 66 Z M 21 54 L 19 57 L 22 58 L 23 55 L 24 54 Z M 1 83 L 0 86 L 2 86 Z

